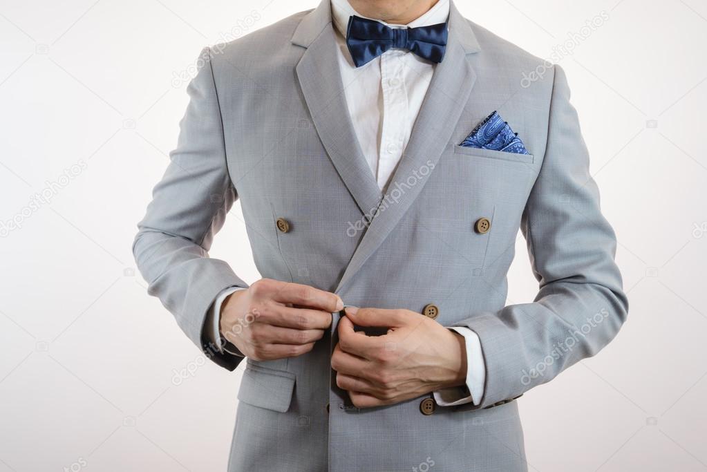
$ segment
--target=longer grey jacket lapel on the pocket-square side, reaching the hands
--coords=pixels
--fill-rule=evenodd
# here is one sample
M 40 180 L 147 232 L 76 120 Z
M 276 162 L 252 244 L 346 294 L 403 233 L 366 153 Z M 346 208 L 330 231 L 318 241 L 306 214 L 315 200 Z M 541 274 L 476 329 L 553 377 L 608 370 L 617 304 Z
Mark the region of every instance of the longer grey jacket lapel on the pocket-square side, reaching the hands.
M 467 60 L 467 54 L 477 52 L 479 45 L 469 23 L 453 4 L 450 6 L 449 28 L 444 60 L 433 73 L 408 146 L 390 180 L 380 211 L 363 235 L 337 291 L 344 288 L 380 247 L 420 194 L 469 98 L 476 73 Z

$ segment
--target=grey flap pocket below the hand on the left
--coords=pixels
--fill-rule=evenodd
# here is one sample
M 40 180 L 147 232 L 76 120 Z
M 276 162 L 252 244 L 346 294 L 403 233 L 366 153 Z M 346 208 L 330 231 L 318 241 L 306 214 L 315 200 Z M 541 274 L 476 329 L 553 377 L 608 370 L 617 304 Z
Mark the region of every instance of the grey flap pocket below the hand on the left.
M 243 372 L 238 400 L 252 406 L 285 413 L 290 408 L 295 389 L 295 374 L 268 369 L 250 362 Z

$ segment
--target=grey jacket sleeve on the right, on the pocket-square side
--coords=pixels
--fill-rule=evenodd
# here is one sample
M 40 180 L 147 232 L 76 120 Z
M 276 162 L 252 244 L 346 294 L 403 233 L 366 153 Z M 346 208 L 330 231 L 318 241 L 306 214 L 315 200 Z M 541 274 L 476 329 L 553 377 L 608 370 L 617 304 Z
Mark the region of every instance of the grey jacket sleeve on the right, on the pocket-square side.
M 537 297 L 457 324 L 481 340 L 486 385 L 479 408 L 518 397 L 595 355 L 628 313 L 614 231 L 600 211 L 569 99 L 566 76 L 555 66 L 546 153 L 521 220 Z

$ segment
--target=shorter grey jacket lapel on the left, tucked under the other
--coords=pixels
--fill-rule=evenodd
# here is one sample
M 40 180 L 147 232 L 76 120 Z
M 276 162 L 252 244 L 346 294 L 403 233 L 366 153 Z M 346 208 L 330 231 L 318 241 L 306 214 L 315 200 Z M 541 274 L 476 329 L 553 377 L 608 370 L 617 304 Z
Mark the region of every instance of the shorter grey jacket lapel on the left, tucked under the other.
M 306 47 L 296 67 L 307 107 L 334 167 L 364 215 L 373 216 L 382 192 L 356 138 L 339 71 L 330 0 L 300 22 L 292 42 Z

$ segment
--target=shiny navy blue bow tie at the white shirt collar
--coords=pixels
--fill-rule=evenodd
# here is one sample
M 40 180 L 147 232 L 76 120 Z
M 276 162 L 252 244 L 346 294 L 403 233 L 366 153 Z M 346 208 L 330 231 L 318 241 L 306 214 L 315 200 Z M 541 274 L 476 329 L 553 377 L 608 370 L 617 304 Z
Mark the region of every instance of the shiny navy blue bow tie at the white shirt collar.
M 447 47 L 447 23 L 420 28 L 389 28 L 360 16 L 349 18 L 346 45 L 356 67 L 373 61 L 392 47 L 408 49 L 423 59 L 441 62 Z

